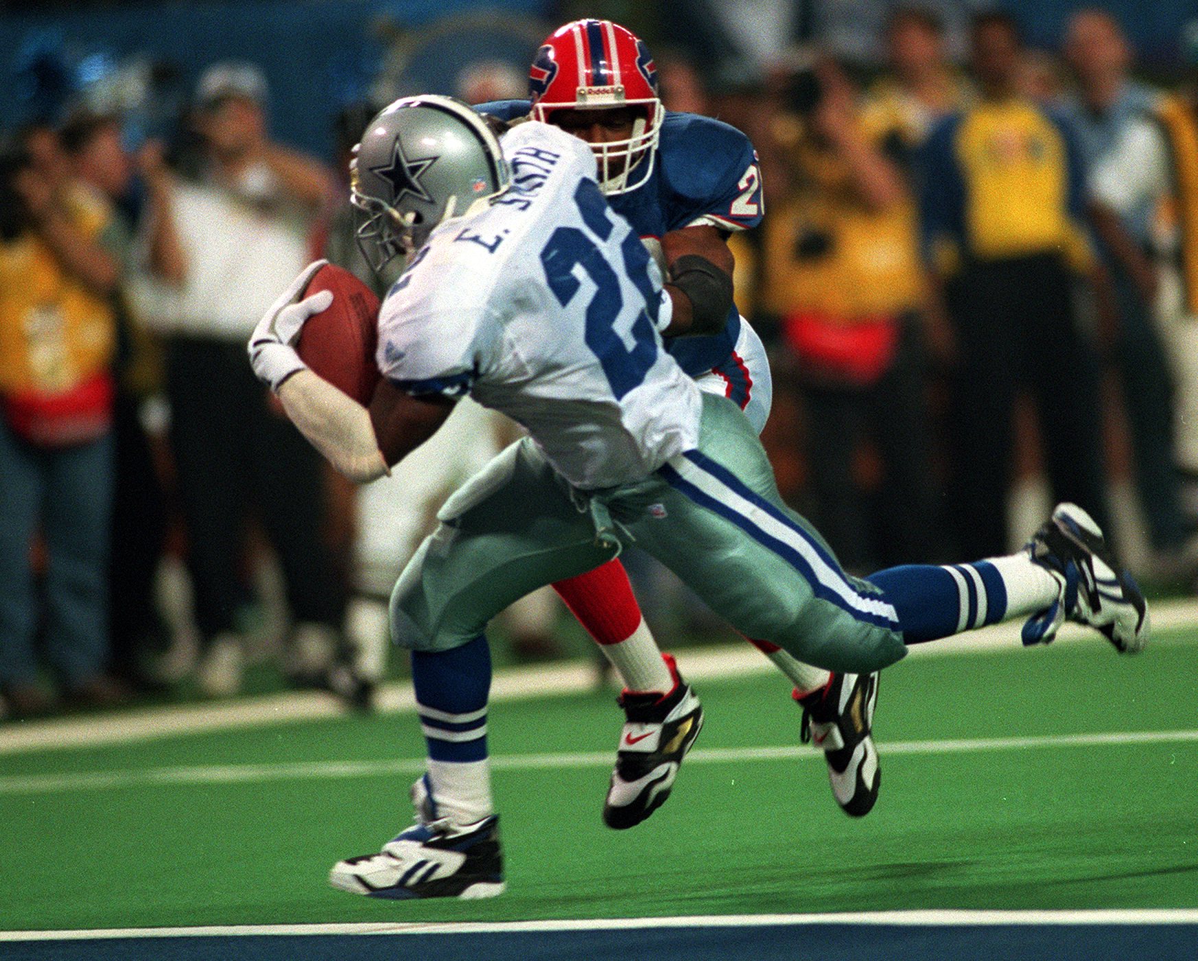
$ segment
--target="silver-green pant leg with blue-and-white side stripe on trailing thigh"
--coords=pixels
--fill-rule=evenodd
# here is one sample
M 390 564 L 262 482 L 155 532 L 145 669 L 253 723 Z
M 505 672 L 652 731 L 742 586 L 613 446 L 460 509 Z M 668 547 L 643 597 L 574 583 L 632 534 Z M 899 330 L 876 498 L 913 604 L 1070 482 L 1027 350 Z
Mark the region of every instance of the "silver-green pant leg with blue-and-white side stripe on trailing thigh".
M 748 637 L 853 673 L 906 653 L 891 605 L 785 506 L 756 433 L 726 399 L 704 393 L 698 448 L 619 489 L 612 513 Z

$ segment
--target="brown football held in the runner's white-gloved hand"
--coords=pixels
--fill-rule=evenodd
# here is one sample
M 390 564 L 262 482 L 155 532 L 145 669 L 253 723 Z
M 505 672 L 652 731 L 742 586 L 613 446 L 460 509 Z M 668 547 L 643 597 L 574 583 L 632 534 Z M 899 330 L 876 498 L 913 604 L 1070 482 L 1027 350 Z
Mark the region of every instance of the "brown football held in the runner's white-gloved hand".
M 332 291 L 333 303 L 304 322 L 296 351 L 313 371 L 369 406 L 382 376 L 375 364 L 379 298 L 357 277 L 335 264 L 326 264 L 313 274 L 304 297 L 321 290 Z

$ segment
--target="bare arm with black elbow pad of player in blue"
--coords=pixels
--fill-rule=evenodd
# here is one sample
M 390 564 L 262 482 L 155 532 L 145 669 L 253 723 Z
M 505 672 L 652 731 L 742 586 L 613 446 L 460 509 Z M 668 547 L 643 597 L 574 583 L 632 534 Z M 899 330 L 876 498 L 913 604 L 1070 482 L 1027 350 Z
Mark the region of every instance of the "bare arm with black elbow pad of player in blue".
M 736 261 L 727 241 L 714 226 L 684 226 L 661 238 L 668 279 L 665 290 L 673 304 L 666 337 L 715 334 L 732 310 L 732 270 Z

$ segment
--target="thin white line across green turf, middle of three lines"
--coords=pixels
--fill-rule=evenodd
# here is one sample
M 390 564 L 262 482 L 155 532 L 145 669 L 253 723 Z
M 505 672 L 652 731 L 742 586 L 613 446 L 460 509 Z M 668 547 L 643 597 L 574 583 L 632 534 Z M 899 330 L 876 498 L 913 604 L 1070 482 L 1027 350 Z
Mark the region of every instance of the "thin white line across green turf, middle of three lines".
M 1042 737 L 996 737 L 957 741 L 900 741 L 885 743 L 885 757 L 901 754 L 937 755 L 974 751 L 1028 750 L 1045 748 L 1097 748 L 1140 744 L 1198 742 L 1194 731 L 1121 731 L 1095 735 L 1046 735 Z M 577 754 L 508 754 L 491 758 L 492 770 L 561 770 L 563 768 L 610 767 L 611 751 Z M 726 764 L 745 761 L 813 761 L 823 753 L 805 744 L 763 748 L 714 748 L 686 755 L 688 764 Z M 145 787 L 146 785 L 253 784 L 268 780 L 331 778 L 377 778 L 422 774 L 423 757 L 385 761 L 300 761 L 278 764 L 202 764 L 127 770 L 96 770 L 77 774 L 31 774 L 0 778 L 0 796 L 61 793 L 83 790 Z

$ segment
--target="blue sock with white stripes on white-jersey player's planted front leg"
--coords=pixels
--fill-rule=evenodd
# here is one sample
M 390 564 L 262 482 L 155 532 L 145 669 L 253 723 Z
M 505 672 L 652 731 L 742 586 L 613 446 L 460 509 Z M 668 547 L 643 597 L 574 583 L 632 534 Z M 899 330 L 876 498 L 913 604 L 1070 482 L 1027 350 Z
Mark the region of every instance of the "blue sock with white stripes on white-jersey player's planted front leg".
M 486 699 L 491 648 L 486 637 L 452 651 L 413 651 L 412 687 L 420 727 L 434 761 L 486 758 Z

